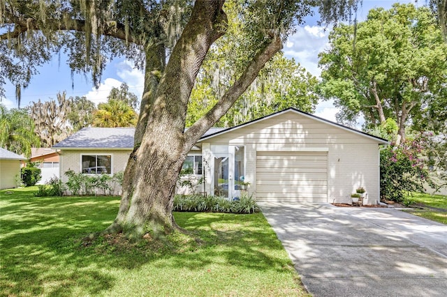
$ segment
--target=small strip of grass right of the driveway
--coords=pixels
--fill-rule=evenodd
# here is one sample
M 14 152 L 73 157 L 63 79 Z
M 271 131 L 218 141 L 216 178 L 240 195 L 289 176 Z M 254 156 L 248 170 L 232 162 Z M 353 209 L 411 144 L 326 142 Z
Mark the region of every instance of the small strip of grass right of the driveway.
M 434 220 L 447 224 L 447 197 L 441 195 L 430 195 L 423 193 L 413 193 L 405 199 L 410 206 L 420 206 L 420 208 L 413 208 L 411 211 L 413 215 Z

